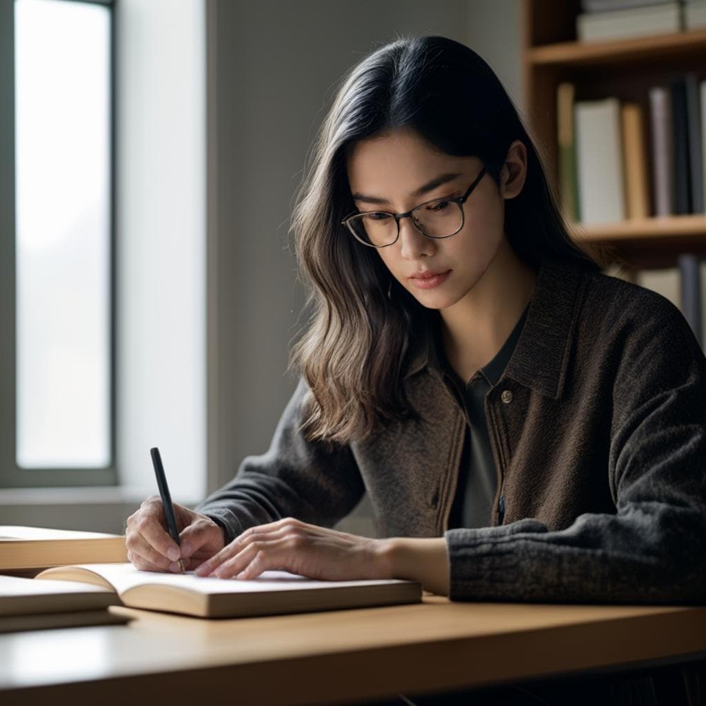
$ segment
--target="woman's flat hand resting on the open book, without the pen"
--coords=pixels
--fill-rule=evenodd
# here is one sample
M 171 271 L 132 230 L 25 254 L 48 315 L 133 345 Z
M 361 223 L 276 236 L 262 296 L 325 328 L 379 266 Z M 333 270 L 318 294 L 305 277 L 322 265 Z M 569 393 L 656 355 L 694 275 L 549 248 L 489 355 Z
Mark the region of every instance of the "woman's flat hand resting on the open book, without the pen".
M 196 568 L 199 576 L 252 579 L 266 570 L 319 580 L 392 578 L 385 542 L 285 517 L 245 530 Z

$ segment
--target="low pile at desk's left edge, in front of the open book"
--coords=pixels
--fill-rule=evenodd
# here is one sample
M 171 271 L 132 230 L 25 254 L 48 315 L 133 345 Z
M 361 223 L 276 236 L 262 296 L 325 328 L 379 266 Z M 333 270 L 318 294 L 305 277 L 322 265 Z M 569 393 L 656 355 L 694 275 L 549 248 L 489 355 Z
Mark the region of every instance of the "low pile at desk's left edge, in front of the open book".
M 100 586 L 0 575 L 0 633 L 125 623 L 108 611 L 119 603 Z

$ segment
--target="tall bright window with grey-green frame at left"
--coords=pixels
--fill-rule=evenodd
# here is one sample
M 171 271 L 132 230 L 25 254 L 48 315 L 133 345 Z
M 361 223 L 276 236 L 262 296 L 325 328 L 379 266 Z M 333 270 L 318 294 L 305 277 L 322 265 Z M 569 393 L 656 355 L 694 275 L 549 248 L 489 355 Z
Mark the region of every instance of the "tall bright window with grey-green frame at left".
M 112 4 L 0 13 L 0 486 L 112 484 Z

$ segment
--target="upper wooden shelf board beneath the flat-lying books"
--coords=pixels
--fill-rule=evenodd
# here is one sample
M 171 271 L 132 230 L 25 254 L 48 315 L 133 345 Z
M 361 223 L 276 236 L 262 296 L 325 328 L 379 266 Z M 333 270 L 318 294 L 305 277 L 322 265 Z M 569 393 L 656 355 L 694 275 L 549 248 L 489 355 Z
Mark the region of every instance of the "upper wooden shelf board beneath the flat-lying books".
M 609 42 L 558 42 L 528 47 L 526 61 L 532 66 L 610 66 L 634 59 L 654 59 L 671 55 L 691 56 L 706 52 L 706 29 L 671 32 L 631 40 Z

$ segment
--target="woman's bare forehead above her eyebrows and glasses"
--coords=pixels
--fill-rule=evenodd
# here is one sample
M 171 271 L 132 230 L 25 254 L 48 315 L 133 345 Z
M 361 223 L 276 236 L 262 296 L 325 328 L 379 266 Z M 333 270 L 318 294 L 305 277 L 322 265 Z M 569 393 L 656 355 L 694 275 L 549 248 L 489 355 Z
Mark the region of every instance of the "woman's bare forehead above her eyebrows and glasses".
M 352 192 L 392 199 L 406 197 L 438 174 L 471 173 L 474 162 L 477 157 L 447 155 L 418 133 L 397 128 L 352 145 L 346 171 Z

